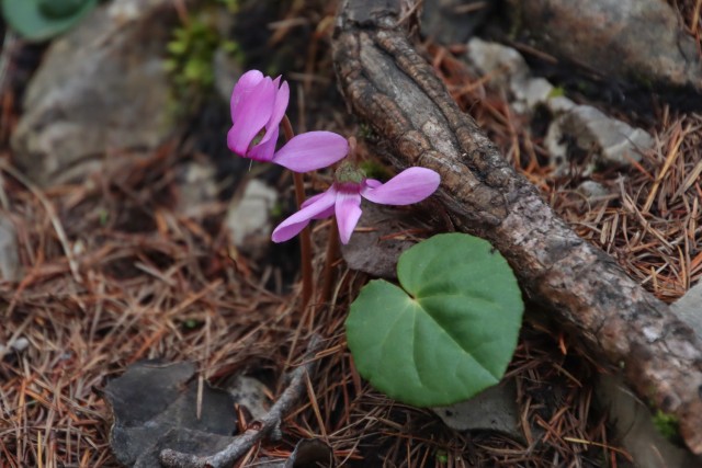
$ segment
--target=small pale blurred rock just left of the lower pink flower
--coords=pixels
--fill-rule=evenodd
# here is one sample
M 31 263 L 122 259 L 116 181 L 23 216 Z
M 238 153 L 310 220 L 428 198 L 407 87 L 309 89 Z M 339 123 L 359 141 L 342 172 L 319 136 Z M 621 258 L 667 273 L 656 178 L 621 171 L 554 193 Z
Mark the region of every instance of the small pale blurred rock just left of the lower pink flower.
M 237 248 L 246 246 L 247 253 L 256 256 L 257 247 L 270 244 L 271 210 L 276 203 L 278 191 L 258 179 L 246 182 L 244 194 L 231 202 L 225 220 Z

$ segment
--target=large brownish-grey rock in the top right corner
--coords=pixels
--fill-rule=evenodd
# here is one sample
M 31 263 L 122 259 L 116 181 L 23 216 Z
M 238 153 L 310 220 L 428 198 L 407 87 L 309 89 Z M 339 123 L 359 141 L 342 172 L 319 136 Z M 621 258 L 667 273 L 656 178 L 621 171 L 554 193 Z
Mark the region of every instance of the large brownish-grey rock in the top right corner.
M 548 54 L 642 84 L 702 91 L 694 38 L 661 0 L 510 0 L 513 24 Z

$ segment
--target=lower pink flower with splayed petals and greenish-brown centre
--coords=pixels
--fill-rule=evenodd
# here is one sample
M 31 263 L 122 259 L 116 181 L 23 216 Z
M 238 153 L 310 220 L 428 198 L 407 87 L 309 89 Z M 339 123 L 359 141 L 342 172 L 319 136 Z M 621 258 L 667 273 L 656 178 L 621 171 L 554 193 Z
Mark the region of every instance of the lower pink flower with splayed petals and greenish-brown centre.
M 312 219 L 337 215 L 341 242 L 348 243 L 361 218 L 361 197 L 384 205 L 409 205 L 431 195 L 440 183 L 437 172 L 426 168 L 409 168 L 386 183 L 366 179 L 355 169 L 342 165 L 336 182 L 325 192 L 307 199 L 273 231 L 273 242 L 284 242 L 302 231 Z

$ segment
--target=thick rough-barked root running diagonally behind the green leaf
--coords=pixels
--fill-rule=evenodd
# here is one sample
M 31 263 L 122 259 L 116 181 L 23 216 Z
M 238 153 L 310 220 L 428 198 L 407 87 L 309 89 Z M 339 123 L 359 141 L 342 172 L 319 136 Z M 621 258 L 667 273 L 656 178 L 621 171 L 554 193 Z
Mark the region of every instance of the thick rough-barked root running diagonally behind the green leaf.
M 680 423 L 702 454 L 702 343 L 668 306 L 580 239 L 461 112 L 407 35 L 411 4 L 347 0 L 333 61 L 347 102 L 389 147 L 398 169 L 441 174 L 438 197 L 458 230 L 488 239 L 543 304 L 637 395 Z M 408 13 L 409 12 L 409 13 Z

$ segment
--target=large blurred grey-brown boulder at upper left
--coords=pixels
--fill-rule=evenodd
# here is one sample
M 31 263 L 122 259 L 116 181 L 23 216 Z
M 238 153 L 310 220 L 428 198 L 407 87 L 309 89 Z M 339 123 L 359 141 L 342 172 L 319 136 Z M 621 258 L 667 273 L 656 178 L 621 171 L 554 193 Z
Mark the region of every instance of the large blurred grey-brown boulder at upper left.
M 18 165 L 47 185 L 162 144 L 174 125 L 162 59 L 177 24 L 171 0 L 115 0 L 56 41 L 12 135 Z

